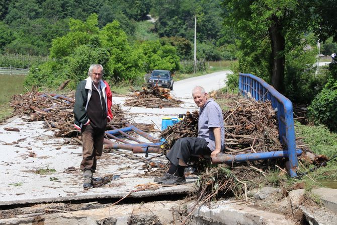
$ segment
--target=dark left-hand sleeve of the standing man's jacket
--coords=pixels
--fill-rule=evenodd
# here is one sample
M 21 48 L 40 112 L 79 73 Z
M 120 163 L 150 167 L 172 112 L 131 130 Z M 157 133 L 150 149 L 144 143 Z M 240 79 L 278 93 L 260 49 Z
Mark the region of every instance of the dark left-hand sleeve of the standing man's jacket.
M 74 105 L 74 115 L 75 115 L 75 127 L 81 129 L 82 125 L 88 125 L 90 119 L 87 115 L 86 104 L 88 96 L 86 94 L 85 83 L 79 83 L 75 94 L 75 105 Z

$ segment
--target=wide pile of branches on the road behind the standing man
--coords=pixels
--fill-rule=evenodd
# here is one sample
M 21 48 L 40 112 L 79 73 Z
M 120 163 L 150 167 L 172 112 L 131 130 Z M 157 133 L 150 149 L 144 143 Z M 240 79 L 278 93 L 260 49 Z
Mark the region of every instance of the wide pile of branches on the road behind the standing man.
M 70 93 L 73 96 L 73 94 Z M 28 121 L 45 121 L 49 130 L 55 132 L 57 137 L 74 137 L 78 130 L 74 127 L 73 107 L 74 99 L 57 96 L 55 94 L 42 94 L 30 92 L 12 96 L 10 105 L 14 108 L 14 115 L 20 117 L 29 115 Z M 125 113 L 119 104 L 112 106 L 113 118 L 109 125 L 121 123 L 125 120 Z

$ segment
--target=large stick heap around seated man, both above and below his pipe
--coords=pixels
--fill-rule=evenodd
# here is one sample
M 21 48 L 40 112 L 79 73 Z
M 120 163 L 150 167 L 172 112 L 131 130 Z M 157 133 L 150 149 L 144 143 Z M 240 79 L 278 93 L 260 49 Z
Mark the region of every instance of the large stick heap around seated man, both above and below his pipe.
M 230 109 L 223 112 L 225 154 L 237 155 L 284 149 L 279 140 L 277 115 L 270 102 L 232 98 L 233 101 L 228 103 Z M 164 150 L 168 151 L 181 137 L 197 136 L 198 117 L 197 111 L 187 113 L 183 121 L 163 130 L 161 137 L 167 141 L 163 146 Z M 300 139 L 297 139 L 298 147 L 299 141 Z M 305 152 L 303 155 L 300 161 L 305 160 Z M 270 171 L 276 169 L 286 174 L 285 162 L 284 159 L 247 161 L 217 167 L 212 167 L 209 161 L 202 159 L 190 162 L 191 166 L 201 172 L 197 182 L 199 190 L 196 205 L 207 204 L 226 193 L 247 200 L 247 190 L 258 187 L 262 182 L 266 183 L 265 177 Z

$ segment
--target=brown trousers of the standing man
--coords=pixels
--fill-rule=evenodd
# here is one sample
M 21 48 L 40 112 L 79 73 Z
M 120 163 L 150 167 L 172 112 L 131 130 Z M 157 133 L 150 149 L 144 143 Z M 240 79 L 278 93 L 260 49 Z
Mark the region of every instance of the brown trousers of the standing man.
M 83 158 L 80 169 L 82 171 L 91 170 L 95 172 L 96 162 L 102 156 L 104 129 L 93 129 L 93 127 L 89 124 L 87 126 L 83 126 L 81 132 L 83 141 Z

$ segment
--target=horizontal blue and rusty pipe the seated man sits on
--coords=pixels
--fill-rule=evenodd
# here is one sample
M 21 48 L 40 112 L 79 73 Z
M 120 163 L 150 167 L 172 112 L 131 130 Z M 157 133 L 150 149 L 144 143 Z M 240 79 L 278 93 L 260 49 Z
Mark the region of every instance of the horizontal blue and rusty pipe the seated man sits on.
M 302 154 L 300 149 L 296 150 L 297 156 Z M 244 161 L 256 161 L 256 160 L 271 160 L 271 159 L 278 159 L 278 158 L 288 158 L 288 151 L 275 151 L 275 152 L 266 152 L 266 153 L 254 153 L 254 154 L 238 154 L 238 155 L 221 155 L 212 158 L 213 164 L 218 163 L 225 163 L 225 164 L 232 164 L 237 162 L 244 162 Z

